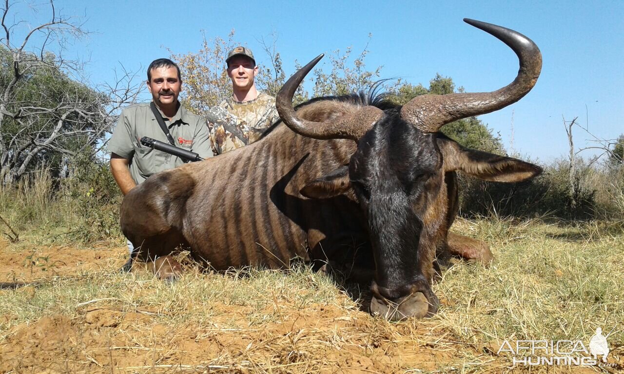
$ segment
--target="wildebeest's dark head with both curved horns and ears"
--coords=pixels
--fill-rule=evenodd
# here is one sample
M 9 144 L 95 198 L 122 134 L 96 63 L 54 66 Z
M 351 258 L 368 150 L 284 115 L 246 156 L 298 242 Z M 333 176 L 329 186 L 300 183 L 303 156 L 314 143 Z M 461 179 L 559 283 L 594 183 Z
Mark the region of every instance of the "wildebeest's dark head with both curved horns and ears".
M 449 173 L 517 182 L 541 172 L 524 161 L 469 150 L 439 133 L 446 123 L 520 100 L 534 87 L 542 66 L 539 49 L 529 38 L 493 24 L 464 21 L 514 50 L 520 60 L 514 82 L 494 92 L 422 95 L 402 107 L 366 106 L 325 122 L 311 122 L 298 117 L 292 97 L 323 57 L 319 55 L 286 82 L 276 100 L 280 117 L 293 131 L 358 143 L 348 165 L 311 181 L 301 193 L 328 198 L 354 191 L 368 221 L 376 264 L 371 309 L 389 319 L 424 317 L 437 309 L 429 280 L 436 247 L 446 240 L 452 221 L 448 219 Z

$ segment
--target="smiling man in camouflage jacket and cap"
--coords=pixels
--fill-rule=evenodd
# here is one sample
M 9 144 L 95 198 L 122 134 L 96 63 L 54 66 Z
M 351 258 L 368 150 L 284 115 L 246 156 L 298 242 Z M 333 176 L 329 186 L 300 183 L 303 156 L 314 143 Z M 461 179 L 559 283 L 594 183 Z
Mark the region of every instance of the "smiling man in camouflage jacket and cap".
M 230 50 L 225 63 L 232 79 L 232 96 L 207 115 L 213 152 L 219 155 L 253 143 L 280 119 L 275 98 L 256 90 L 258 66 L 251 50 L 236 47 Z

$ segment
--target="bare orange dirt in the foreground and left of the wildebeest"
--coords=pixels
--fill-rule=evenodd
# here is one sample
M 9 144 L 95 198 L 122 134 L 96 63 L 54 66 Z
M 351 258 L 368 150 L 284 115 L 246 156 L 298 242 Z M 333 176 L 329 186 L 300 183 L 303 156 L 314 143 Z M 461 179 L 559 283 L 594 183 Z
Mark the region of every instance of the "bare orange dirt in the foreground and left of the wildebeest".
M 31 295 L 37 282 L 114 273 L 125 247 L 21 247 L 0 243 L 0 282 L 34 282 L 1 293 Z M 444 301 L 443 301 L 444 302 Z M 11 323 L 0 315 L 2 373 L 424 373 L 515 372 L 505 358 L 457 342 L 434 321 L 388 324 L 361 310 L 284 305 L 278 320 L 249 325 L 250 310 L 218 305 L 208 323 L 157 318 L 158 309 L 107 300 Z M 233 321 L 240 320 L 232 328 Z M 17 322 L 17 321 L 16 321 Z M 224 328 L 228 326 L 228 328 Z M 583 368 L 585 372 L 594 370 Z M 578 371 L 575 371 L 578 372 Z

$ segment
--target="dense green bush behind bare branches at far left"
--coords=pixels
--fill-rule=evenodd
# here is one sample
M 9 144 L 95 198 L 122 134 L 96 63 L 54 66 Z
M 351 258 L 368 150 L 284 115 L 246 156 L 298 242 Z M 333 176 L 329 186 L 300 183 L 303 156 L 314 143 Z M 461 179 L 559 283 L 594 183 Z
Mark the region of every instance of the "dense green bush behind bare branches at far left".
M 29 59 L 22 56 L 26 61 L 21 62 L 21 75 L 10 88 L 15 77 L 14 57 L 11 50 L 0 46 L 0 92 L 8 95 L 8 100 L 1 102 L 4 111 L 14 113 L 4 115 L 0 122 L 2 148 L 7 153 L 0 156 L 6 156 L 2 168 L 11 170 L 15 178 L 42 163 L 58 172 L 67 154 L 94 145 L 104 136 L 102 105 L 109 101 L 102 93 L 70 79 L 55 63 L 54 55 L 45 54 L 43 60 L 24 55 Z

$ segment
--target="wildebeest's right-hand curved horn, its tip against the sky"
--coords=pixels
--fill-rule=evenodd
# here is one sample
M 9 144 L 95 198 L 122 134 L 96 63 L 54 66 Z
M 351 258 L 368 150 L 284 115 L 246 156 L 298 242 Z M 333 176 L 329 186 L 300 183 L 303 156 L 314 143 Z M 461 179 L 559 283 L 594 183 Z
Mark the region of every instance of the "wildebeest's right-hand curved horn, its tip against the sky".
M 437 132 L 442 125 L 485 113 L 517 102 L 537 82 L 542 70 L 542 54 L 535 43 L 505 27 L 464 18 L 464 22 L 500 39 L 518 55 L 520 70 L 514 82 L 494 92 L 421 95 L 401 109 L 401 117 L 424 132 Z

